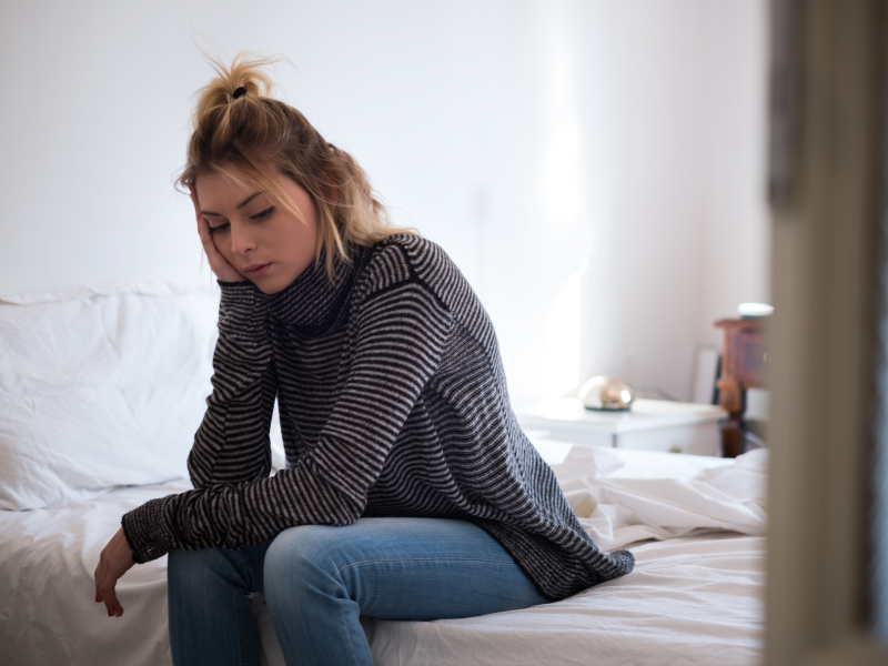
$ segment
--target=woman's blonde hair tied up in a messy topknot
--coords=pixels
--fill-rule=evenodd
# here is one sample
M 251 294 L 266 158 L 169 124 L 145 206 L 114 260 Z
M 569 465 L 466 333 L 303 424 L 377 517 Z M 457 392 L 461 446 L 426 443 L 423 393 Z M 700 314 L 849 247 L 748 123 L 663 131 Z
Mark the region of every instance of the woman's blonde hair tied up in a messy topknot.
M 284 58 L 240 53 L 230 68 L 208 59 L 218 75 L 198 93 L 180 186 L 193 189 L 202 173 L 220 173 L 265 193 L 304 221 L 275 171 L 293 179 L 314 201 L 315 263 L 326 249 L 331 280 L 337 256 L 351 261 L 350 244 L 370 246 L 396 233 L 415 233 L 392 226 L 389 211 L 349 153 L 327 143 L 293 107 L 271 97 L 274 84 L 263 68 Z

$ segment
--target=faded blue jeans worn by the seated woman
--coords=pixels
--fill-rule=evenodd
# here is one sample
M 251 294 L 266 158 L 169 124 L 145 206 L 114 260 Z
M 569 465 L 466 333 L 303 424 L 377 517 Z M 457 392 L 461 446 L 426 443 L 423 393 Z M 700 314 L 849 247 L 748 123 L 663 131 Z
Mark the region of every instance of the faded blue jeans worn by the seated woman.
M 173 551 L 168 585 L 176 666 L 256 664 L 254 592 L 289 666 L 371 666 L 360 615 L 428 620 L 546 603 L 486 532 L 443 518 L 361 518 L 240 551 Z

